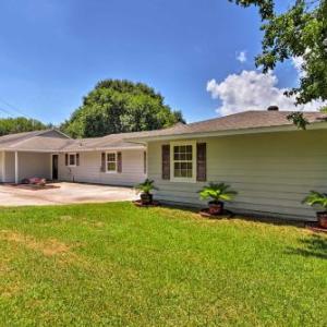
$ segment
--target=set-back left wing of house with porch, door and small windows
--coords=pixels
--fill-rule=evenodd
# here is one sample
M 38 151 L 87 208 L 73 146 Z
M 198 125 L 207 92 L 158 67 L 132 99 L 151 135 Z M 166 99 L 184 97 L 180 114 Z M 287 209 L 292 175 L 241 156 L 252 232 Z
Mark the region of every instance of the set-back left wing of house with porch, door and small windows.
M 146 148 L 124 142 L 126 136 L 131 134 L 72 140 L 58 130 L 1 136 L 0 182 L 20 183 L 38 177 L 134 185 L 146 177 Z

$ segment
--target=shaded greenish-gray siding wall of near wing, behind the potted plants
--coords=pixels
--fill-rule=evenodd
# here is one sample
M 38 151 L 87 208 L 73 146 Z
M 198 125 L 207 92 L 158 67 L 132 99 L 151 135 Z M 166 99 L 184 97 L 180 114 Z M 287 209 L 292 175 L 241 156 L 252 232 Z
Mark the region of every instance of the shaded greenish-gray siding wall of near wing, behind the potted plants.
M 311 191 L 327 184 L 327 131 L 298 131 L 196 140 L 207 143 L 207 181 L 223 181 L 239 195 L 229 205 L 235 213 L 315 220 L 301 204 Z M 156 198 L 205 206 L 196 193 L 206 183 L 161 179 L 161 145 L 148 144 L 148 178 L 159 191 Z

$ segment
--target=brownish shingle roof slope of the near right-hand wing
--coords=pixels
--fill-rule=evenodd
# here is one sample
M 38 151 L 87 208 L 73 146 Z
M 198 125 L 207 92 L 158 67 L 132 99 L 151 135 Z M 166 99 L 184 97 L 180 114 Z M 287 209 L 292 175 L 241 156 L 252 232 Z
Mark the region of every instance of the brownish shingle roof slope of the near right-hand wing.
M 144 135 L 135 135 L 129 140 L 292 125 L 293 123 L 287 119 L 290 113 L 292 111 L 244 111 L 190 124 L 177 124 L 170 129 L 144 132 Z M 303 113 L 310 123 L 327 119 L 327 114 L 322 112 Z

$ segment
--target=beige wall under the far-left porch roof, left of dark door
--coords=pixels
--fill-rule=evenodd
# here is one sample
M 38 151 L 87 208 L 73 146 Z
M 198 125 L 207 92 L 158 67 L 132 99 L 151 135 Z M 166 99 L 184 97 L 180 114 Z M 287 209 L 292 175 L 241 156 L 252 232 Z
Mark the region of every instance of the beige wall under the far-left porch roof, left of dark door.
M 50 155 L 19 152 L 19 182 L 25 178 L 50 179 Z

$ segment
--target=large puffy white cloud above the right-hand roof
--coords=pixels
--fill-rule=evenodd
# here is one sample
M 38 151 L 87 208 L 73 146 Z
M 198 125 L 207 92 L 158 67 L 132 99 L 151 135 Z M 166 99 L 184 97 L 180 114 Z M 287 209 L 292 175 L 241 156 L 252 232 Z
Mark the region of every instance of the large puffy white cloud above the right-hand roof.
M 207 83 L 207 92 L 213 98 L 221 100 L 217 112 L 226 116 L 246 110 L 265 110 L 269 106 L 278 106 L 280 110 L 316 111 L 323 101 L 307 105 L 294 105 L 294 97 L 284 96 L 286 88 L 278 88 L 278 78 L 274 73 L 263 74 L 257 71 L 243 71 L 231 74 L 218 83 L 211 80 Z

